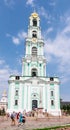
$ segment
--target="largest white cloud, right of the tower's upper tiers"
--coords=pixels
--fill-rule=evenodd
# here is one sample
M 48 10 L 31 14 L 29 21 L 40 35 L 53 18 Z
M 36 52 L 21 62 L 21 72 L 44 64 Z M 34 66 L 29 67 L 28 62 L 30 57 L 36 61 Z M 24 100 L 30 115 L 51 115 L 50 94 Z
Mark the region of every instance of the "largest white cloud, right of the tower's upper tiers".
M 65 27 L 57 33 L 54 40 L 45 37 L 44 48 L 48 61 L 58 62 L 58 71 L 64 76 L 63 83 L 70 80 L 70 17 L 67 19 Z

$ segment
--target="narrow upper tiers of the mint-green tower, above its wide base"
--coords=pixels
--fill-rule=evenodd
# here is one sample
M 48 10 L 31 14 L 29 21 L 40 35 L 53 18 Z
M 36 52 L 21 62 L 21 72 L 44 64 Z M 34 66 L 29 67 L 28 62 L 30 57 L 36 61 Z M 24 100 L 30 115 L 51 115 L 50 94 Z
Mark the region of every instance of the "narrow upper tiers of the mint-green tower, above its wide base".
M 25 57 L 22 59 L 22 76 L 46 76 L 44 41 L 41 36 L 40 18 L 36 12 L 29 17 L 25 41 Z

